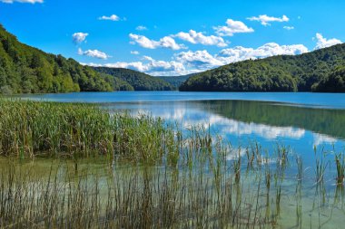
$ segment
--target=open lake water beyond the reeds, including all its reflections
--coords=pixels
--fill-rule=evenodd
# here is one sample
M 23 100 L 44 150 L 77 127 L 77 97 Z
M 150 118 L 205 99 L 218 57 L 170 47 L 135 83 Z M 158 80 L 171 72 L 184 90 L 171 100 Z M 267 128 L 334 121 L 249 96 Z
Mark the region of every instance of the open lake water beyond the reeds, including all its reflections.
M 210 125 L 233 144 L 248 139 L 308 153 L 344 143 L 345 94 L 259 92 L 82 92 L 25 95 L 32 100 L 91 102 L 112 110 L 149 113 L 183 126 Z

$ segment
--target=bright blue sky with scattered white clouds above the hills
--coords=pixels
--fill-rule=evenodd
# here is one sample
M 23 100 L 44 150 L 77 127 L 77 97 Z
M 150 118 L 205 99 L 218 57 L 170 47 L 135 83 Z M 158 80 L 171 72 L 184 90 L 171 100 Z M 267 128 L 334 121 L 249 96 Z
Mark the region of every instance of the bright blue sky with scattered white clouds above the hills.
M 167 76 L 342 43 L 344 14 L 339 0 L 0 0 L 22 43 Z

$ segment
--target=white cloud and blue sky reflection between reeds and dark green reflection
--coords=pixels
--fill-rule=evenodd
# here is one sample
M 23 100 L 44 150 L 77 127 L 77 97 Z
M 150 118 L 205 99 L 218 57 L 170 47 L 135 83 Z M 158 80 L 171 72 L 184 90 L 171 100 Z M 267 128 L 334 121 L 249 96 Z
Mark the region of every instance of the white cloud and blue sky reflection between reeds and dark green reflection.
M 200 104 L 192 102 L 166 102 L 166 103 L 123 103 L 112 106 L 115 110 L 130 110 L 133 114 L 146 113 L 153 117 L 161 117 L 168 121 L 176 121 L 183 128 L 203 126 L 212 133 L 228 139 L 232 146 L 246 146 L 257 141 L 262 148 L 273 150 L 277 144 L 290 146 L 299 154 L 313 156 L 313 148 L 324 147 L 330 150 L 333 145 L 341 148 L 343 141 L 331 136 L 314 133 L 308 129 L 296 127 L 270 126 L 262 123 L 244 122 L 237 119 L 222 117 L 203 110 Z

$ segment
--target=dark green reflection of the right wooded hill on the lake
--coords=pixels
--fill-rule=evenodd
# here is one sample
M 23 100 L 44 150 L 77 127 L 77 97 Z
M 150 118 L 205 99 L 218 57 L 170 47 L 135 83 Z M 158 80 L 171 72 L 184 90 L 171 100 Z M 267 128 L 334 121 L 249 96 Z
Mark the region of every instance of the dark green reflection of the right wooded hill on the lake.
M 296 127 L 312 132 L 345 138 L 345 110 L 326 110 L 243 100 L 194 101 L 202 110 L 243 122 L 279 127 Z

